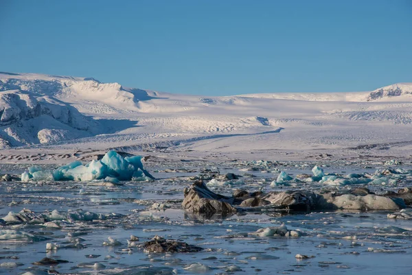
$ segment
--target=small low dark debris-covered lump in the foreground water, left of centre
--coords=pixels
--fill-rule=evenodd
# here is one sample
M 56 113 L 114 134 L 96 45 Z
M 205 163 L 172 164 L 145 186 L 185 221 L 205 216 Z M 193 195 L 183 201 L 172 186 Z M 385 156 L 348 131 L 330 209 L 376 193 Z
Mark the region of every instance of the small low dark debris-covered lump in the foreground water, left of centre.
M 147 252 L 164 253 L 164 252 L 199 252 L 203 250 L 195 245 L 184 243 L 183 241 L 166 240 L 160 236 L 155 236 L 143 245 Z

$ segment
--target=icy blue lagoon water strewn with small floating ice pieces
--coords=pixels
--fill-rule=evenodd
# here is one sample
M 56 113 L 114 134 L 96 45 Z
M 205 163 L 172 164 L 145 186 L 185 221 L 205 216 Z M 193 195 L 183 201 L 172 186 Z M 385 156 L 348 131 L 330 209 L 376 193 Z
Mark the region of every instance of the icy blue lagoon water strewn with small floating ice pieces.
M 1 166 L 1 171 L 22 173 L 25 168 L 8 164 Z M 0 217 L 12 219 L 15 214 L 9 212 L 18 213 L 24 208 L 27 217 L 31 215 L 30 221 L 0 223 L 0 274 L 47 270 L 60 274 L 410 274 L 412 269 L 412 220 L 388 219 L 391 212 L 255 210 L 206 219 L 181 208 L 183 188 L 200 175 L 209 181 L 207 175 L 216 171 L 220 175 L 243 175 L 239 179 L 218 178 L 227 184 L 210 187 L 224 195 L 236 188 L 270 191 L 351 187 L 297 181 L 297 175 L 314 176 L 312 164 L 170 162 L 145 168 L 157 180 L 106 185 L 102 185 L 103 181 L 0 181 Z M 379 167 L 333 164 L 321 168 L 325 174 L 345 176 L 374 175 Z M 291 186 L 271 186 L 281 171 L 293 178 Z M 405 173 L 396 181 L 388 179 L 384 184 L 366 186 L 375 192 L 397 190 L 411 186 L 409 177 Z M 49 217 L 49 222 L 41 217 Z M 302 236 L 251 234 L 282 224 Z M 130 235 L 139 240 L 128 245 Z M 203 251 L 155 254 L 139 248 L 155 235 L 197 245 Z M 46 250 L 47 243 L 51 243 L 48 248 L 52 250 Z M 297 254 L 307 259 L 297 259 Z M 45 257 L 69 262 L 33 264 Z

